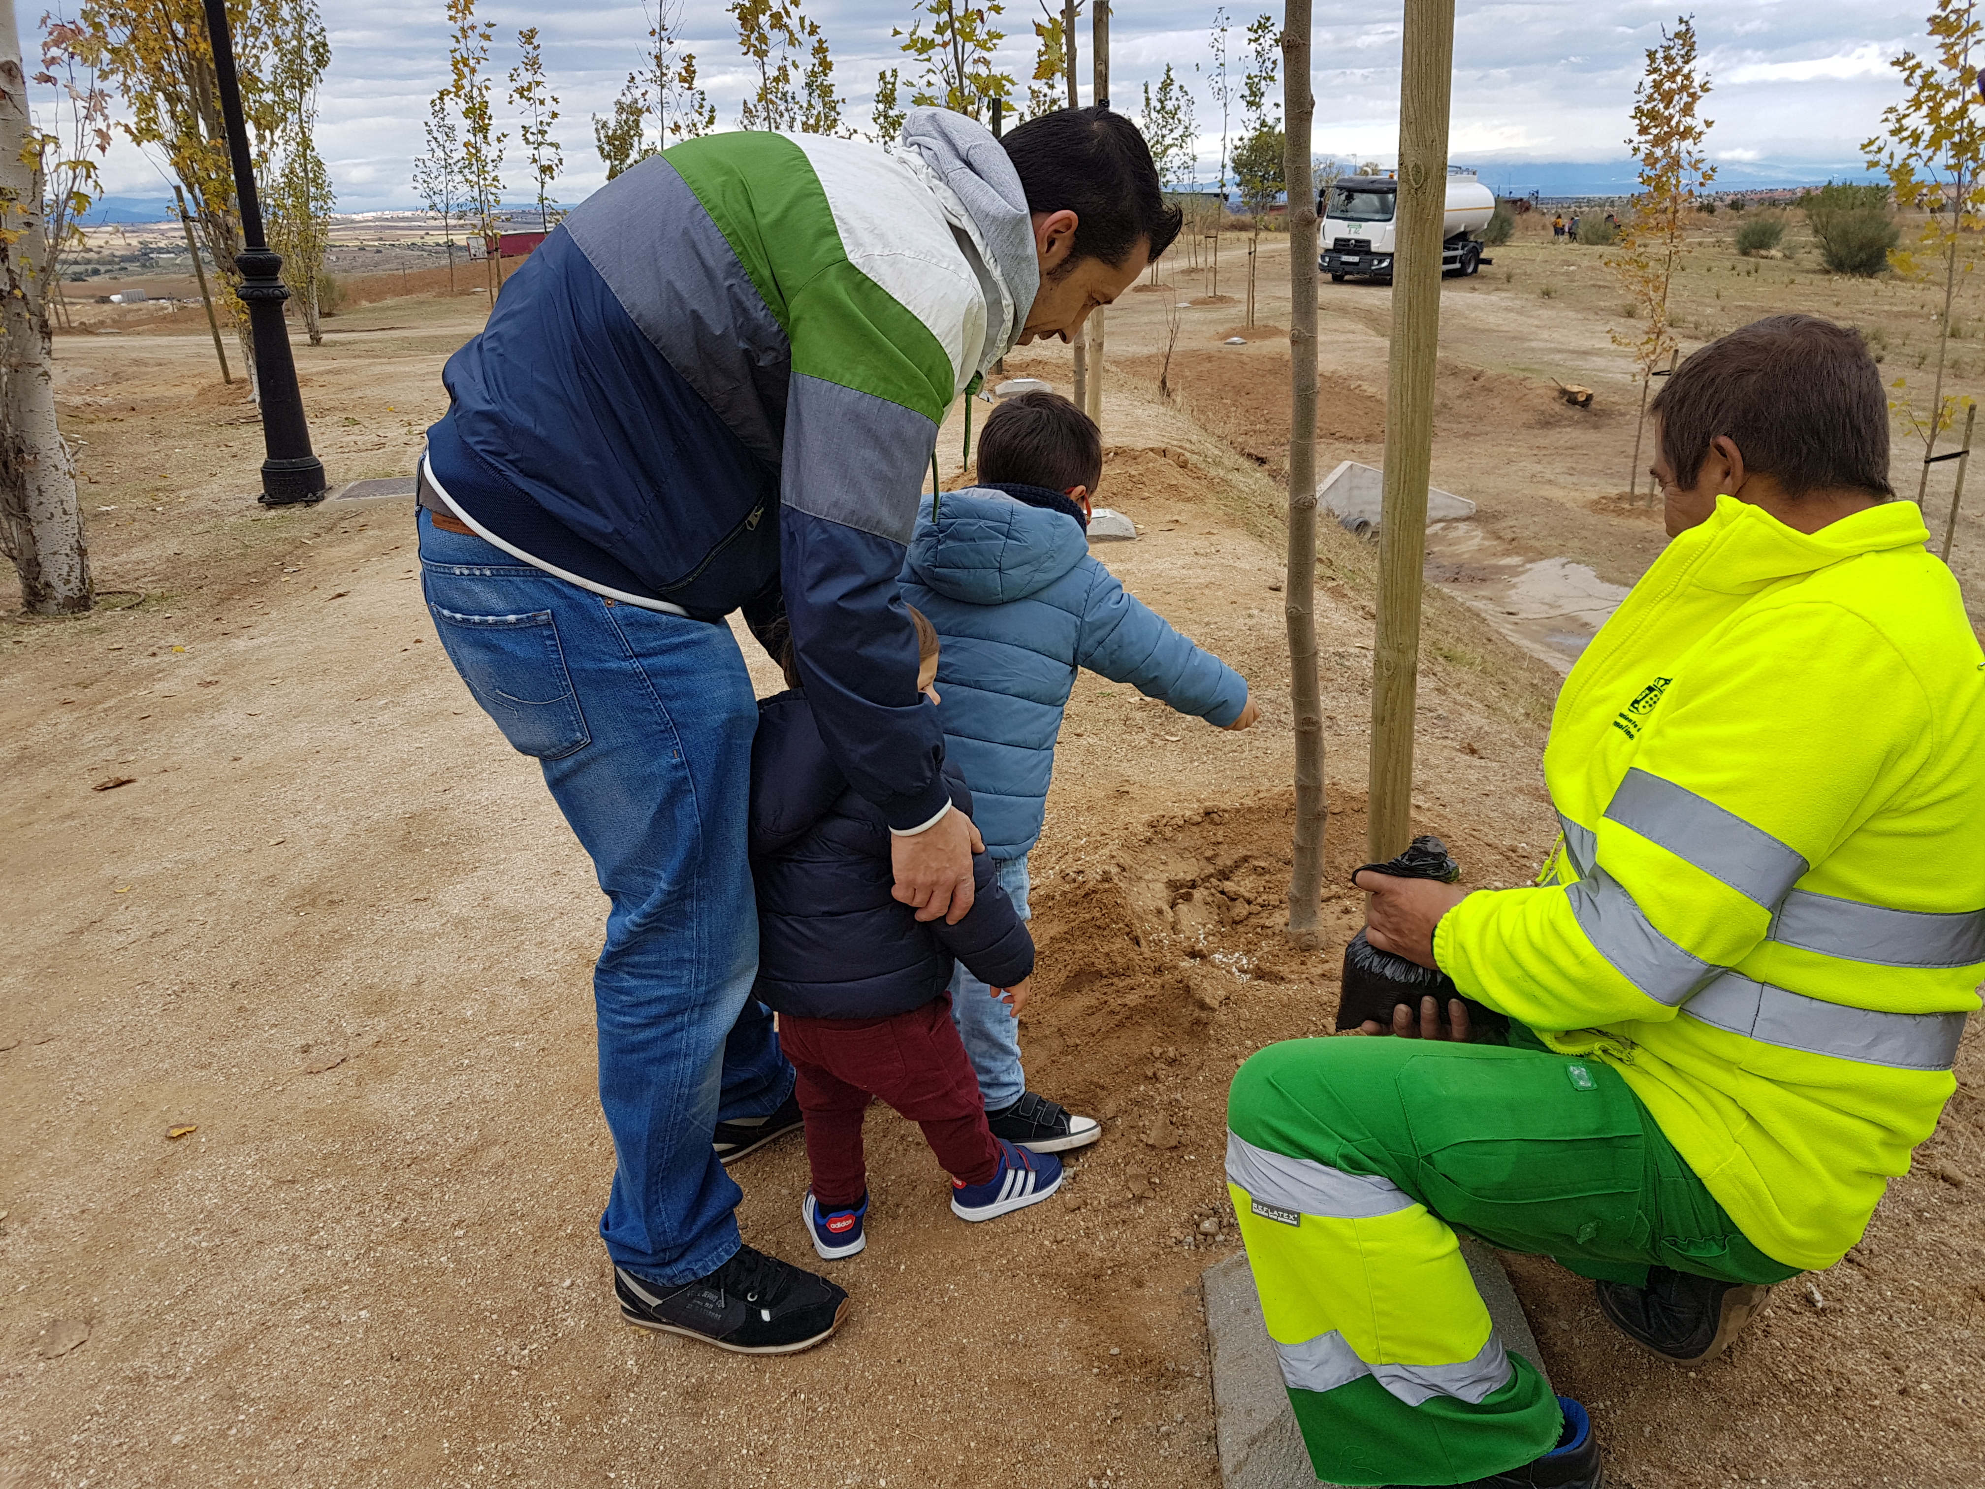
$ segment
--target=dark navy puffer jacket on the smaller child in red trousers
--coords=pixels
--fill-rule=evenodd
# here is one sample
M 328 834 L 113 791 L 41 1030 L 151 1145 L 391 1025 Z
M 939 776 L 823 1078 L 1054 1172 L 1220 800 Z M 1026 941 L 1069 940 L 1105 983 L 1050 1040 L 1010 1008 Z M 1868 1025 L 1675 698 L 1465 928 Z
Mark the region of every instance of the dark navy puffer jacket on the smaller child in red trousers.
M 951 802 L 973 794 L 945 764 Z M 806 693 L 758 705 L 750 746 L 750 866 L 758 883 L 754 995 L 800 1018 L 885 1018 L 921 1009 L 951 981 L 957 957 L 981 983 L 1012 987 L 1034 971 L 1034 941 L 973 858 L 979 897 L 957 925 L 919 921 L 893 899 L 889 824 L 834 764 Z

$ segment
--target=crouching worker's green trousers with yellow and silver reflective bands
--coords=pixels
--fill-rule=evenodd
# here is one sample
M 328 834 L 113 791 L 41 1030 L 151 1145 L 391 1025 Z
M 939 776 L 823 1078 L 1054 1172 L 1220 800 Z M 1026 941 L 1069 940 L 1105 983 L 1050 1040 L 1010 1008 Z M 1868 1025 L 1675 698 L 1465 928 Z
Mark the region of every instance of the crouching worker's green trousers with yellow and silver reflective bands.
M 1646 1285 L 1796 1275 L 1753 1247 L 1618 1072 L 1509 1046 L 1306 1038 L 1255 1054 L 1227 1181 L 1316 1475 L 1453 1485 L 1548 1453 L 1562 1414 L 1505 1354 L 1455 1231 Z

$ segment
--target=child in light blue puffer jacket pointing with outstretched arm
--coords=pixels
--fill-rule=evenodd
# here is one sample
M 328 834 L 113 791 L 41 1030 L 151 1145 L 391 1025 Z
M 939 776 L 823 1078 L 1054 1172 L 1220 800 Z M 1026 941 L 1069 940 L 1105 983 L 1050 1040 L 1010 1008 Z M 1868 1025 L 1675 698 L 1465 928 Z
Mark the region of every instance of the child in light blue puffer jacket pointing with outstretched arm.
M 1090 558 L 1090 496 L 1102 473 L 1102 435 L 1082 409 L 1042 391 L 1006 399 L 979 437 L 979 484 L 925 498 L 901 576 L 903 600 L 943 637 L 945 758 L 973 782 L 973 820 L 1022 919 L 1026 854 L 1040 838 L 1078 667 L 1219 729 L 1255 723 L 1247 681 Z M 996 1138 L 1058 1153 L 1102 1136 L 1094 1118 L 1026 1090 L 1018 1011 L 963 965 L 951 1016 Z

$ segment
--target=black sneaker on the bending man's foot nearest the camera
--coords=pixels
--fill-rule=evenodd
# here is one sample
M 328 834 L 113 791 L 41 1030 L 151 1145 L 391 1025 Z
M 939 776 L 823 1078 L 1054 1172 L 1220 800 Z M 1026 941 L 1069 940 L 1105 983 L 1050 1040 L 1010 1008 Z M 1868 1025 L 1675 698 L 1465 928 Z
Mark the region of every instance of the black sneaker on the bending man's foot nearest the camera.
M 709 1277 L 673 1288 L 615 1267 L 613 1292 L 629 1324 L 685 1334 L 736 1354 L 810 1350 L 848 1312 L 846 1288 L 752 1247 L 738 1247 Z

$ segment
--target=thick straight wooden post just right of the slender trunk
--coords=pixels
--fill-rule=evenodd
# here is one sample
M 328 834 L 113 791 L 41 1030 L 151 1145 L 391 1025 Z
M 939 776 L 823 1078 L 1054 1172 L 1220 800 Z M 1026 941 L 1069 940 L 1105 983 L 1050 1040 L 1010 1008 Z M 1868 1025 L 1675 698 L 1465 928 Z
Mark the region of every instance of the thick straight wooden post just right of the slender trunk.
M 1433 357 L 1441 332 L 1441 226 L 1447 216 L 1447 99 L 1453 64 L 1455 0 L 1405 0 L 1399 66 L 1399 248 L 1391 282 L 1386 496 L 1380 508 L 1366 808 L 1366 858 L 1374 862 L 1393 858 L 1413 836 L 1413 701 L 1419 689 L 1419 596 L 1427 564 Z

